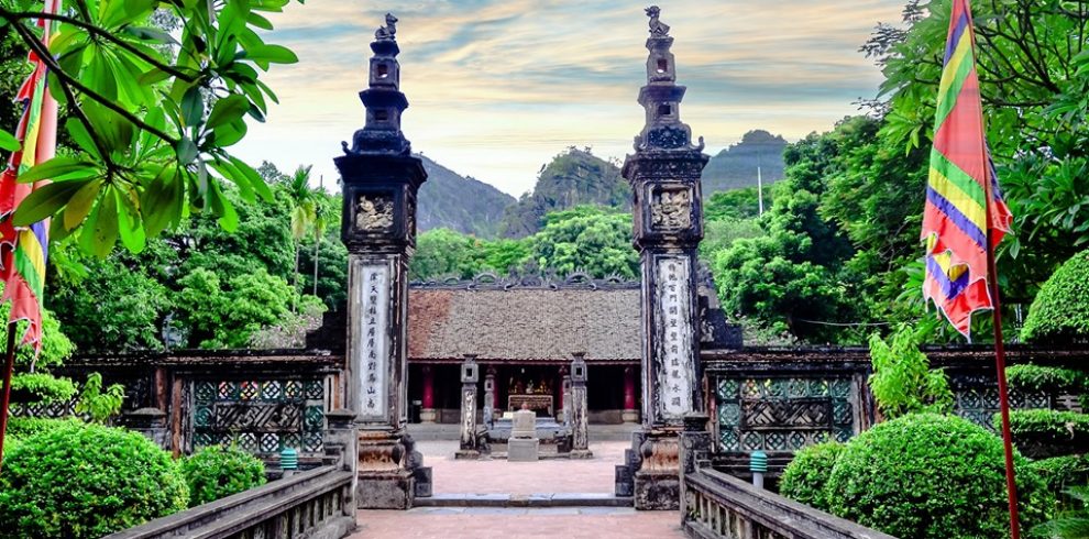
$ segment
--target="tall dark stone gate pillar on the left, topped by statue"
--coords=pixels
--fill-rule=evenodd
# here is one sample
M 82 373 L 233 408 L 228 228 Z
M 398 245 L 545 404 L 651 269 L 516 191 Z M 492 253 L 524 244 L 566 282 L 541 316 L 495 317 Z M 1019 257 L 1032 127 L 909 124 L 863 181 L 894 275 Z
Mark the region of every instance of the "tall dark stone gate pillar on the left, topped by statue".
M 405 466 L 408 411 L 408 260 L 416 246 L 416 194 L 427 179 L 400 131 L 408 100 L 400 92 L 397 19 L 371 44 L 370 88 L 360 92 L 366 124 L 334 163 L 343 193 L 341 239 L 348 248 L 346 407 L 356 414 L 360 508 L 413 505 Z

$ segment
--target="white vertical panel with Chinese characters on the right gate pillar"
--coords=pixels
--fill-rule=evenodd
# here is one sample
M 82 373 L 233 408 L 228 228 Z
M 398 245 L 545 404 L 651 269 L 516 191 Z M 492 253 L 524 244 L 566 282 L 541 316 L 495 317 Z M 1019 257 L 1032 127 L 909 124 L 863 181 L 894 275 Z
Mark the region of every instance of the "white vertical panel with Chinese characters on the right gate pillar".
M 658 410 L 663 418 L 682 419 L 692 411 L 695 361 L 690 319 L 689 258 L 658 258 Z

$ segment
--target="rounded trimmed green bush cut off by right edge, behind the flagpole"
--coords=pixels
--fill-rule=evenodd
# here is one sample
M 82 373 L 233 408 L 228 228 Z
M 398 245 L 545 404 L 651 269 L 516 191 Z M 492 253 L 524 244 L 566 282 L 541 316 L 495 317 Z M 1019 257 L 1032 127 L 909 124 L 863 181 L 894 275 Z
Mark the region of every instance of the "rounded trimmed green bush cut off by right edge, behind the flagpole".
M 1063 263 L 1028 307 L 1021 338 L 1028 342 L 1089 340 L 1089 251 Z

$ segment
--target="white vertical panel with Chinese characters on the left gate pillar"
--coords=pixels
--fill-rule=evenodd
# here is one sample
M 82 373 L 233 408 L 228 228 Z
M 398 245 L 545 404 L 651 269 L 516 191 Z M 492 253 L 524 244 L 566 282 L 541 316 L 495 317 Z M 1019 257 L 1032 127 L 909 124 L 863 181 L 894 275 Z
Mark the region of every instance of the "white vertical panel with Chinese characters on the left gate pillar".
M 363 417 L 386 416 L 386 373 L 389 363 L 389 267 L 360 265 L 360 403 Z

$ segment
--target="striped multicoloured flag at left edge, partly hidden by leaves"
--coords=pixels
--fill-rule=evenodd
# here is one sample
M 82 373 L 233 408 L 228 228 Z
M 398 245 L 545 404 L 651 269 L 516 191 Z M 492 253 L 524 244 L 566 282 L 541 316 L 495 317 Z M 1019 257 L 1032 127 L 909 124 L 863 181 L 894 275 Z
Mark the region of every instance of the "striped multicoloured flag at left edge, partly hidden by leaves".
M 59 0 L 46 0 L 45 12 L 56 13 Z M 41 21 L 42 41 L 50 42 L 52 24 Z M 20 184 L 19 175 L 48 161 L 56 151 L 57 105 L 46 89 L 46 66 L 31 53 L 33 73 L 23 82 L 15 102 L 23 105 L 23 116 L 15 130 L 22 147 L 12 153 L 8 168 L 0 176 L 0 279 L 4 283 L 2 301 L 11 301 L 10 322 L 29 322 L 22 343 L 42 348 L 42 295 L 45 261 L 48 252 L 48 221 L 15 227 L 11 219 L 19 205 L 47 182 Z

